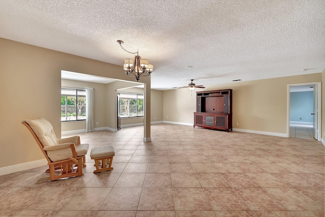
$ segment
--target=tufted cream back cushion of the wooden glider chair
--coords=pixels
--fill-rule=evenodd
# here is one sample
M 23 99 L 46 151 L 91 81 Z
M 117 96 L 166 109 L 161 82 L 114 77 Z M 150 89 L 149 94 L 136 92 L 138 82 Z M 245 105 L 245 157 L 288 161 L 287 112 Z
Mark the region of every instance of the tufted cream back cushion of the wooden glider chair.
M 51 123 L 44 118 L 38 118 L 35 120 L 24 120 L 29 127 L 34 131 L 43 147 L 48 145 L 59 144 L 54 134 Z

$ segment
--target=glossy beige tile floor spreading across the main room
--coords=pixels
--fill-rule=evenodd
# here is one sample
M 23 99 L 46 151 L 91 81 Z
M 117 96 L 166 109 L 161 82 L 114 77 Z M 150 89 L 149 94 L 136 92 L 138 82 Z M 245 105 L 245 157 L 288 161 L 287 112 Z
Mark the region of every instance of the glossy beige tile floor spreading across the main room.
M 0 216 L 324 216 L 324 146 L 315 140 L 151 126 L 80 134 L 113 145 L 114 170 L 37 182 L 0 176 Z M 37 145 L 35 143 L 35 145 Z M 90 153 L 90 150 L 89 152 Z

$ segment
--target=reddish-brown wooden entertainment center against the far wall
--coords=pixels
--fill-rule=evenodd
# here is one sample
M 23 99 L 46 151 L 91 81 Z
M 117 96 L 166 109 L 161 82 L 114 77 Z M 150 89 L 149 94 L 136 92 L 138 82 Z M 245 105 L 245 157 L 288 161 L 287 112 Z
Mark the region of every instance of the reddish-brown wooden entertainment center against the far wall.
M 197 112 L 193 128 L 233 130 L 232 89 L 197 92 Z

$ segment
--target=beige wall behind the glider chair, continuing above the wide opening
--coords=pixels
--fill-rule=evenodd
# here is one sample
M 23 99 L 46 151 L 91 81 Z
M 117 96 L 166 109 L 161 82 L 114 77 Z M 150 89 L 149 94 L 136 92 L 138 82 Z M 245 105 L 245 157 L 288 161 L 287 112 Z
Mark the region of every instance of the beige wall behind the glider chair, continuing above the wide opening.
M 121 66 L 93 59 L 1 38 L 0 47 L 0 168 L 44 159 L 34 138 L 21 124 L 23 119 L 44 117 L 60 137 L 61 70 L 134 80 L 125 76 Z M 141 82 L 150 87 L 150 76 L 141 78 Z M 150 89 L 146 92 L 150 96 Z M 111 126 L 108 121 L 106 126 Z M 146 126 L 145 136 L 150 137 L 150 122 Z

